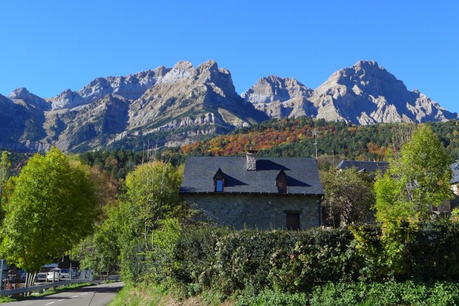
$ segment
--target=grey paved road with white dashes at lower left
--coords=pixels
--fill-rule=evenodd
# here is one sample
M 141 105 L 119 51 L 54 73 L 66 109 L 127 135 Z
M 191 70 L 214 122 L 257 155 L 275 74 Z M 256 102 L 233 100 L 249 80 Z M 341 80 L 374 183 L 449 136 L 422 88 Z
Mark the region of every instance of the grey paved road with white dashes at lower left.
M 32 297 L 19 302 L 9 302 L 5 306 L 105 306 L 123 286 L 123 282 L 117 282 L 69 289 L 52 295 Z

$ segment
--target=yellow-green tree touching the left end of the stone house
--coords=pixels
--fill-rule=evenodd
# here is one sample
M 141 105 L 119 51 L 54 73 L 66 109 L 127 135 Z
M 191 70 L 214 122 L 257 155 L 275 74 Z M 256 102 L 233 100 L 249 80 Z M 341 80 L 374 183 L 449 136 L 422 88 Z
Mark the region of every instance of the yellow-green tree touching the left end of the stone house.
M 182 168 L 162 161 L 149 161 L 127 175 L 126 193 L 119 204 L 118 237 L 126 281 L 146 273 L 148 254 L 155 247 L 154 231 L 162 220 L 186 214 L 185 202 L 179 196 L 181 179 Z

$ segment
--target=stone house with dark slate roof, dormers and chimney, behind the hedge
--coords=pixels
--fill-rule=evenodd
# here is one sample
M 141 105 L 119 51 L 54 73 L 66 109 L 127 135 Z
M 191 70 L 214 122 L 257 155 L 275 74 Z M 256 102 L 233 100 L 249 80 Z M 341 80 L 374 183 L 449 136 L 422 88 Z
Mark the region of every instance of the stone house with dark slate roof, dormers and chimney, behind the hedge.
M 187 157 L 181 196 L 218 225 L 308 229 L 324 196 L 313 158 Z

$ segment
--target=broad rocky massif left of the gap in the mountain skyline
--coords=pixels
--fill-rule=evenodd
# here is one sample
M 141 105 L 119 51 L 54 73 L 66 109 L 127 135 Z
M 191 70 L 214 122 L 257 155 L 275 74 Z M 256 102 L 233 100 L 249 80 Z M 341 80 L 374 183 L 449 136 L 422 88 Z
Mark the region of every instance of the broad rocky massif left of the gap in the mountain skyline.
M 14 141 L 12 130 L 0 126 L 10 133 L 5 147 L 25 150 L 180 145 L 268 119 L 236 93 L 231 73 L 212 60 L 196 68 L 182 61 L 172 68 L 100 77 L 47 100 L 18 89 L 4 104 L 8 116 L 21 107 L 33 115 L 15 128 L 20 136 Z

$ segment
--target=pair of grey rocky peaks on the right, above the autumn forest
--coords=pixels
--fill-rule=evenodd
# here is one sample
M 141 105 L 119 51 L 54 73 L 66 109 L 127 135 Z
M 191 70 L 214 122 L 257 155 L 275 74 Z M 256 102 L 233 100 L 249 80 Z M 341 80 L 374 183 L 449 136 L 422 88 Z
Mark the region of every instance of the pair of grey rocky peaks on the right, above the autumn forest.
M 284 84 L 290 79 L 272 79 L 260 79 L 242 96 L 273 118 L 307 115 L 354 124 L 458 118 L 419 91 L 407 90 L 401 80 L 373 61 L 359 61 L 341 69 L 314 91 L 293 91 L 296 96 L 285 90 Z

